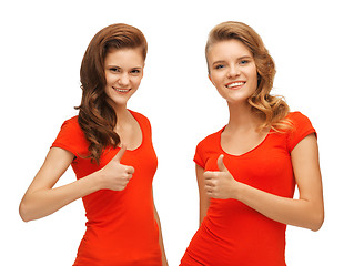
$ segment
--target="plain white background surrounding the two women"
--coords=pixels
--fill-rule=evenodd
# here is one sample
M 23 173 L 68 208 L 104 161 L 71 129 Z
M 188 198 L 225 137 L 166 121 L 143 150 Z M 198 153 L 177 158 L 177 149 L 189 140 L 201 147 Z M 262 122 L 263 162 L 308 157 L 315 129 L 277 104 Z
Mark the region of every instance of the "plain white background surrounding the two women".
M 4 3 L 6 2 L 6 3 Z M 228 122 L 208 80 L 204 44 L 218 23 L 253 27 L 275 60 L 275 94 L 318 132 L 326 219 L 287 228 L 292 266 L 364 265 L 363 8 L 361 1 L 3 1 L 0 4 L 0 265 L 72 265 L 84 233 L 77 201 L 23 223 L 19 202 L 62 122 L 80 104 L 79 68 L 91 38 L 124 22 L 149 42 L 144 79 L 129 108 L 145 114 L 159 156 L 154 197 L 166 255 L 179 264 L 198 229 L 192 161 Z M 74 181 L 69 170 L 58 185 Z

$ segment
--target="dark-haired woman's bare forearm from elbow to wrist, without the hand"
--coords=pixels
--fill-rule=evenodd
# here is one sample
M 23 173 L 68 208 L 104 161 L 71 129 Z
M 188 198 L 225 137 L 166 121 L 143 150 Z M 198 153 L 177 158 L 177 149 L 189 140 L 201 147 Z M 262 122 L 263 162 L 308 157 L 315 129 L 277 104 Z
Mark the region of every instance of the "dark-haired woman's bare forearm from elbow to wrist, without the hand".
M 100 190 L 98 172 L 55 188 L 39 188 L 27 192 L 20 204 L 24 222 L 48 216 L 73 201 Z

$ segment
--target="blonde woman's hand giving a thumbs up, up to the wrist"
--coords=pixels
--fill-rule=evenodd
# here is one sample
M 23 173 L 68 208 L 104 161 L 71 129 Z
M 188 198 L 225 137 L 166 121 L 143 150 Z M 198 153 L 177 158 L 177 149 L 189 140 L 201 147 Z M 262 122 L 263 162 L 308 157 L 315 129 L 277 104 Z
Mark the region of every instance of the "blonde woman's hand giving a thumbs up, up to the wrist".
M 237 182 L 226 168 L 224 155 L 221 154 L 218 158 L 219 171 L 206 171 L 203 173 L 205 182 L 205 191 L 210 197 L 214 198 L 234 198 Z

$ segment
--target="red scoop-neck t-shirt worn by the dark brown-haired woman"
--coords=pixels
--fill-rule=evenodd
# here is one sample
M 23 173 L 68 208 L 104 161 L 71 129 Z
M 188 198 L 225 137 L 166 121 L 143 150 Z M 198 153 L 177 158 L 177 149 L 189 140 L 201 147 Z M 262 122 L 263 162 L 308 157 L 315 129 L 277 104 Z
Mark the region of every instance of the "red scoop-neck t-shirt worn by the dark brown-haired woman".
M 125 151 L 121 164 L 133 166 L 135 172 L 123 191 L 101 190 L 82 198 L 88 222 L 74 262 L 77 266 L 162 264 L 152 201 L 152 181 L 158 161 L 151 125 L 142 114 L 130 112 L 141 127 L 143 141 L 138 149 Z M 102 168 L 120 150 L 103 152 L 100 165 L 84 158 L 89 144 L 78 116 L 63 123 L 52 146 L 74 154 L 71 165 L 78 180 Z

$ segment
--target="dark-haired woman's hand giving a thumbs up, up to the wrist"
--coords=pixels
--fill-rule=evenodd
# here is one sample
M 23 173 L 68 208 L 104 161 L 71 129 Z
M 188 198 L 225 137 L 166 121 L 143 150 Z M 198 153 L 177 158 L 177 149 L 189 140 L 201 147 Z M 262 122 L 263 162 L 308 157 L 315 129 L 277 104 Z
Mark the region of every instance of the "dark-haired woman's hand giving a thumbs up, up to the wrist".
M 117 155 L 100 170 L 100 176 L 104 190 L 122 191 L 127 187 L 129 181 L 133 176 L 134 168 L 132 166 L 120 163 L 127 151 L 125 145 L 121 145 Z

